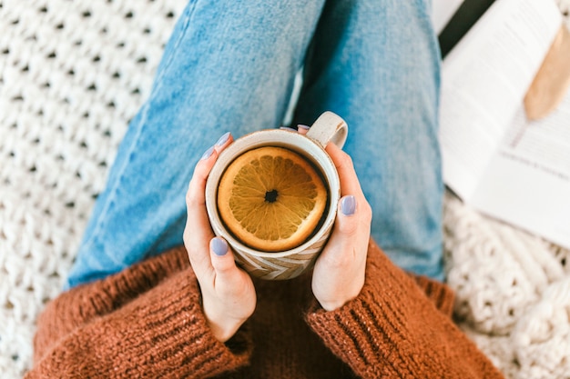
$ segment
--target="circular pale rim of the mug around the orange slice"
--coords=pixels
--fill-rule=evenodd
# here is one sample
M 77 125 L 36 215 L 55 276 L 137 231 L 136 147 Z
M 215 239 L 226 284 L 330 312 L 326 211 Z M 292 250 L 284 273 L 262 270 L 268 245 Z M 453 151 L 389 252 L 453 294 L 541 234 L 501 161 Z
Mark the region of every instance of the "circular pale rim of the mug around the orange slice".
M 262 138 L 259 138 L 259 135 Z M 291 142 L 277 140 L 280 136 L 287 136 Z M 295 141 L 297 140 L 297 141 Z M 296 246 L 292 249 L 285 250 L 282 252 L 263 252 L 260 250 L 253 249 L 247 244 L 241 243 L 237 238 L 229 232 L 229 230 L 222 223 L 219 212 L 218 212 L 218 190 L 219 190 L 219 180 L 225 172 L 229 163 L 233 161 L 239 155 L 246 153 L 249 150 L 262 147 L 262 146 L 280 146 L 294 150 L 302 154 L 306 159 L 313 161 L 313 164 L 318 164 L 321 174 L 325 177 L 328 184 L 328 193 L 331 196 L 331 201 L 327 209 L 327 215 L 323 222 L 321 223 L 320 229 L 312 236 L 306 240 L 303 244 Z M 308 152 L 307 146 L 312 146 L 313 151 Z M 307 156 L 310 155 L 310 156 Z M 323 161 L 325 165 L 330 165 L 331 170 L 325 170 L 323 168 Z M 337 188 L 336 191 L 331 190 L 332 188 Z M 206 210 L 209 216 L 210 224 L 214 230 L 214 234 L 222 236 L 228 240 L 230 246 L 236 246 L 244 253 L 259 256 L 264 258 L 282 258 L 285 256 L 290 256 L 294 254 L 302 254 L 305 250 L 310 248 L 312 244 L 319 241 L 324 234 L 328 226 L 334 222 L 336 218 L 336 208 L 338 206 L 339 199 L 341 198 L 341 181 L 336 170 L 334 163 L 332 162 L 331 156 L 327 154 L 324 148 L 312 138 L 306 135 L 300 135 L 294 131 L 287 131 L 282 129 L 266 129 L 258 130 L 248 135 L 243 135 L 239 139 L 232 142 L 224 151 L 219 154 L 218 160 L 209 172 L 208 179 L 206 181 Z

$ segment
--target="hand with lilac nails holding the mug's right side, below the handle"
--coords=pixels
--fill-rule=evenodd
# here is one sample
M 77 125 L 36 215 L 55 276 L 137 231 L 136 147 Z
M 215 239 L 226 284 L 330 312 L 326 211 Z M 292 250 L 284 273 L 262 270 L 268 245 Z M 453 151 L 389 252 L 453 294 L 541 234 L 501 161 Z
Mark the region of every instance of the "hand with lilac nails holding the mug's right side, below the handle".
M 341 201 L 331 238 L 315 263 L 312 292 L 332 311 L 355 298 L 364 285 L 372 208 L 362 194 L 352 160 L 338 146 L 326 148 L 341 179 Z

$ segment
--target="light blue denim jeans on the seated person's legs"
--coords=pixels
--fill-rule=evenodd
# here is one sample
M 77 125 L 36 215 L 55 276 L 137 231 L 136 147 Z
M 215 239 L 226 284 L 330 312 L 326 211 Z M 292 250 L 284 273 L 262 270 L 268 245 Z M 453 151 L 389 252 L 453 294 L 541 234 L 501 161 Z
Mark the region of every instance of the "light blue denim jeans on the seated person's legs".
M 440 52 L 429 0 L 190 0 L 148 101 L 128 126 L 66 287 L 182 244 L 185 194 L 220 135 L 325 110 L 349 125 L 372 236 L 406 270 L 442 279 Z

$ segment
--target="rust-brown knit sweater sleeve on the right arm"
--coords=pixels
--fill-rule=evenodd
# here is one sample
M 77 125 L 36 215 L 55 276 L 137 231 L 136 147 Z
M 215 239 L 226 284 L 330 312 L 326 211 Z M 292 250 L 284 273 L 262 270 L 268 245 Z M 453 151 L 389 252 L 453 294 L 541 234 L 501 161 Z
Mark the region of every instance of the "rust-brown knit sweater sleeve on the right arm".
M 502 378 L 453 324 L 452 304 L 445 285 L 414 280 L 371 242 L 361 294 L 332 312 L 313 304 L 307 321 L 363 378 Z

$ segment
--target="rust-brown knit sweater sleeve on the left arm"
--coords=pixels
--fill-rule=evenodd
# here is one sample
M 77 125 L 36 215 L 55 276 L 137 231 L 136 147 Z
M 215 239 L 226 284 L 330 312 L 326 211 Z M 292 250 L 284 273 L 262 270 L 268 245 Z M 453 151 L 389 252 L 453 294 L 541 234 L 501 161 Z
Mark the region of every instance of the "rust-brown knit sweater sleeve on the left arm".
M 207 377 L 248 363 L 248 331 L 240 329 L 227 344 L 214 337 L 190 268 L 158 282 L 114 312 L 85 319 L 52 342 L 27 377 Z M 89 303 L 89 293 L 81 297 L 82 304 Z M 98 309 L 99 300 L 91 300 Z M 59 304 L 62 309 L 72 306 Z

